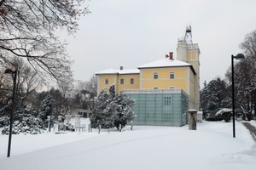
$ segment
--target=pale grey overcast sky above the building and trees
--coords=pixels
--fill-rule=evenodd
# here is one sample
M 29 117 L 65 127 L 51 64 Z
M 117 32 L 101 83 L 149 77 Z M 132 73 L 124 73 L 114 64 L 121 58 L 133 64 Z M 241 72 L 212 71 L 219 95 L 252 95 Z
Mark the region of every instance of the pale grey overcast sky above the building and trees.
M 90 0 L 91 14 L 79 20 L 75 37 L 67 37 L 76 80 L 96 71 L 135 69 L 174 52 L 177 38 L 192 26 L 201 55 L 201 87 L 224 77 L 231 54 L 256 30 L 255 0 Z

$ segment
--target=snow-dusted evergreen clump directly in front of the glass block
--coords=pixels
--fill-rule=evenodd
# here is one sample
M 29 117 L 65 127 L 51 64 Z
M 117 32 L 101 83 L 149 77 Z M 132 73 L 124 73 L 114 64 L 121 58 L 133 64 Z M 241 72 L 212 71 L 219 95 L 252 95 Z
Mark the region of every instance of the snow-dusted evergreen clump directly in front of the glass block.
M 125 94 L 115 94 L 114 86 L 107 91 L 102 91 L 95 102 L 95 108 L 90 122 L 92 127 L 102 128 L 117 127 L 121 130 L 125 127 L 127 121 L 134 120 L 134 111 L 132 106 L 135 100 Z

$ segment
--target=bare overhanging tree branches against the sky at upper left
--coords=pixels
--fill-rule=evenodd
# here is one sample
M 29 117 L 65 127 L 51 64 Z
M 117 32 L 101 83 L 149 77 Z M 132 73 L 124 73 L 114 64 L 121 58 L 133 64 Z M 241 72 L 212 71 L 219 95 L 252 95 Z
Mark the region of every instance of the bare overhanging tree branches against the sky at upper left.
M 56 80 L 71 75 L 66 43 L 55 36 L 58 29 L 69 34 L 78 30 L 84 0 L 0 0 L 0 64 L 10 57 L 26 59 L 37 73 Z

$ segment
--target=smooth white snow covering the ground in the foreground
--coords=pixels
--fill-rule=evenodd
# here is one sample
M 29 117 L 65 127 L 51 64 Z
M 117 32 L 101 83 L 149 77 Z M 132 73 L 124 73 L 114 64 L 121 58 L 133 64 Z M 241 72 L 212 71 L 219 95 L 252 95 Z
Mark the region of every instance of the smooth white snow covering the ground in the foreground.
M 256 124 L 252 122 L 252 124 Z M 135 126 L 131 131 L 43 133 L 13 135 L 11 157 L 6 158 L 8 136 L 0 135 L 1 170 L 254 170 L 256 143 L 246 127 L 232 123 L 197 123 L 184 127 Z M 65 144 L 66 143 L 66 144 Z

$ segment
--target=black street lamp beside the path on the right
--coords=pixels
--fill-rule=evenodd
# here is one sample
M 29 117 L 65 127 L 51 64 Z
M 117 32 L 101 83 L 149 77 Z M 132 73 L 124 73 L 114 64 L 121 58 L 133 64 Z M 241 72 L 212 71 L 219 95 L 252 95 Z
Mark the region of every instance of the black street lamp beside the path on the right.
M 244 59 L 243 54 L 231 55 L 231 67 L 232 67 L 232 112 L 233 112 L 233 138 L 236 138 L 235 130 L 235 88 L 234 88 L 234 59 Z

